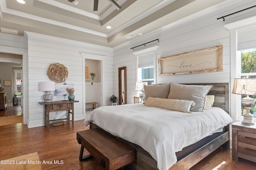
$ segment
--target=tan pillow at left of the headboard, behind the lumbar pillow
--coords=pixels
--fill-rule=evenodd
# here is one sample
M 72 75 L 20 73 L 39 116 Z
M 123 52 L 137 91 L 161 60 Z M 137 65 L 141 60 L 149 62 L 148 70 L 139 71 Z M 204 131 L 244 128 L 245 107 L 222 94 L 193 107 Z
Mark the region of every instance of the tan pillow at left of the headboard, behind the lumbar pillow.
M 152 86 L 144 85 L 145 101 L 148 97 L 167 99 L 169 92 L 170 84 L 155 84 Z

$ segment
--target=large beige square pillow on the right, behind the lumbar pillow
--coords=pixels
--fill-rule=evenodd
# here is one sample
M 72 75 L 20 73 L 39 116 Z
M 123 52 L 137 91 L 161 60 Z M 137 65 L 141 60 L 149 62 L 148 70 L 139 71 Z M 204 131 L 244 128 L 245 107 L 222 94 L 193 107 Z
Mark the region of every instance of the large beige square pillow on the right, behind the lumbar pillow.
M 206 95 L 212 88 L 212 85 L 186 85 L 170 83 L 170 94 L 168 99 L 179 99 L 194 101 L 195 106 L 191 106 L 190 111 L 203 111 Z

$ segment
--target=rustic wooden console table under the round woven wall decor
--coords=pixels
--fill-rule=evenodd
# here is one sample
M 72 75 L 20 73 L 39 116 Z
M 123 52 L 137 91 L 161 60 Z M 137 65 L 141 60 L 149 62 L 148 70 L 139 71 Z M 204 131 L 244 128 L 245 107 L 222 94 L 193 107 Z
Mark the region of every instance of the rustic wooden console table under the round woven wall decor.
M 39 102 L 41 105 L 45 105 L 44 108 L 44 122 L 47 127 L 49 127 L 49 112 L 51 111 L 68 111 L 68 118 L 65 119 L 55 119 L 58 120 L 67 120 L 70 122 L 70 113 L 72 114 L 72 125 L 74 125 L 74 102 L 79 102 L 77 100 L 74 101 L 52 101 L 52 102 Z M 70 111 L 71 110 L 71 111 Z

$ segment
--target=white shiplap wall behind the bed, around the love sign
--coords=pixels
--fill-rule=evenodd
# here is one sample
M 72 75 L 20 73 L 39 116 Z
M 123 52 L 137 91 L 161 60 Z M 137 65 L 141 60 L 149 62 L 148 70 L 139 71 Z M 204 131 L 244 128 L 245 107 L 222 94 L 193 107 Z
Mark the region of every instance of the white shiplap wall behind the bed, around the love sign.
M 231 2 L 231 1 L 229 1 Z M 235 1 L 234 1 L 235 2 Z M 133 103 L 133 97 L 136 95 L 134 91 L 136 82 L 136 56 L 132 53 L 148 48 L 141 46 L 134 51 L 130 48 L 136 47 L 154 39 L 159 39 L 150 44 L 158 45 L 156 50 L 156 63 L 158 58 L 175 55 L 179 53 L 214 47 L 223 45 L 223 72 L 204 73 L 204 74 L 183 74 L 176 76 L 158 76 L 158 64 L 156 64 L 156 83 L 163 84 L 169 82 L 176 83 L 200 83 L 200 82 L 230 82 L 230 33 L 223 26 L 228 22 L 241 20 L 253 14 L 254 9 L 247 10 L 233 16 L 217 20 L 221 16 L 237 12 L 239 10 L 254 6 L 255 0 L 238 1 L 238 3 L 225 4 L 225 8 L 220 10 L 209 11 L 194 20 L 184 21 L 181 24 L 170 26 L 170 29 L 158 29 L 152 33 L 142 35 L 139 38 L 131 40 L 114 47 L 114 75 L 118 75 L 118 67 L 126 66 L 127 69 L 127 101 L 128 104 Z M 114 93 L 118 95 L 118 80 L 114 79 Z

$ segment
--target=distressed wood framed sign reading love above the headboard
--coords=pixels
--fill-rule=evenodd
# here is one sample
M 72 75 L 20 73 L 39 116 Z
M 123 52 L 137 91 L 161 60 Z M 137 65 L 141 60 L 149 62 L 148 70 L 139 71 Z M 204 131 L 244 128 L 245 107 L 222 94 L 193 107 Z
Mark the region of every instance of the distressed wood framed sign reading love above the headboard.
M 221 72 L 222 45 L 158 58 L 158 75 Z

